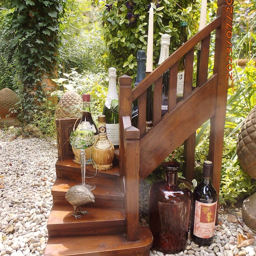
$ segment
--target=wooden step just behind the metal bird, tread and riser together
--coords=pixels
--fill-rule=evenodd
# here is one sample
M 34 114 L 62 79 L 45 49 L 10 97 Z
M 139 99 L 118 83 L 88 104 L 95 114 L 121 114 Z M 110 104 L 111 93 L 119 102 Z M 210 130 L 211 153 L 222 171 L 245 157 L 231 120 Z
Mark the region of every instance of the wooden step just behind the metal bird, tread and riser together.
M 63 180 L 57 178 L 52 187 L 52 197 L 54 204 L 69 204 L 65 199 L 66 192 L 72 186 L 80 184 L 81 182 L 74 180 Z M 95 203 L 93 207 L 102 207 L 102 208 L 118 208 L 123 209 L 124 207 L 124 194 L 120 192 L 120 189 L 117 187 L 111 187 L 108 183 L 95 184 L 95 189 L 92 190 L 93 195 L 95 196 Z

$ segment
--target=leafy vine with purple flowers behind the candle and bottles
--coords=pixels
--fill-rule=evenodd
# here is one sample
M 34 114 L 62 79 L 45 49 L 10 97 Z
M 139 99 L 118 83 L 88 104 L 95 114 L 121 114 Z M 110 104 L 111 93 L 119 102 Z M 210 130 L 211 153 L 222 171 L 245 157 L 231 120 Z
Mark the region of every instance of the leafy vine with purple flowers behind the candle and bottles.
M 171 35 L 171 53 L 179 46 L 180 22 L 187 21 L 190 33 L 198 31 L 200 13 L 197 0 L 154 0 L 154 67 L 160 55 L 162 34 Z M 106 5 L 106 6 L 105 6 Z M 136 76 L 136 56 L 146 50 L 148 37 L 148 0 L 111 1 L 102 4 L 103 38 L 109 51 L 104 55 L 106 67 L 116 67 L 117 75 Z

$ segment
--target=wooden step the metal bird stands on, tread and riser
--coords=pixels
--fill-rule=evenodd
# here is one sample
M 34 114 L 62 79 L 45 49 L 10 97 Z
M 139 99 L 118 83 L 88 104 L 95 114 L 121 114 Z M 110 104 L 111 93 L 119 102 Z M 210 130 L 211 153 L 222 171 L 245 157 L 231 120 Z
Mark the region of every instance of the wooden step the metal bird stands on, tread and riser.
M 93 236 L 122 234 L 125 232 L 125 211 L 123 209 L 94 208 L 94 203 L 81 207 L 89 214 L 76 219 L 74 208 L 69 205 L 53 205 L 47 222 L 49 237 Z M 79 211 L 79 207 L 77 208 Z

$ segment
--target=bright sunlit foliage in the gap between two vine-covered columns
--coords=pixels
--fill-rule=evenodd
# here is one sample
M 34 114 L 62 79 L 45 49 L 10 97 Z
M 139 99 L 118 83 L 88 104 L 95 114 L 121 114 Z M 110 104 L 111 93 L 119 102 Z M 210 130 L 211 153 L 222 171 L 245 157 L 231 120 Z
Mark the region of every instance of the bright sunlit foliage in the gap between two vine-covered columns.
M 106 51 L 100 36 L 98 12 L 90 0 L 68 0 L 61 24 L 60 63 L 63 73 L 71 68 L 98 73 L 102 70 L 101 56 Z

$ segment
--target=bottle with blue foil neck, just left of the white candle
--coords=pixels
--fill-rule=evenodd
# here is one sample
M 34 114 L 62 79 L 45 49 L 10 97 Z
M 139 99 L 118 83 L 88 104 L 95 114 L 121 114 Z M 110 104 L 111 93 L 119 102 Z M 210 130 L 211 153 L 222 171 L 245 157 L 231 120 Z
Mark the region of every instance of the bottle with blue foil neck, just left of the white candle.
M 134 87 L 136 87 L 140 82 L 145 78 L 145 66 L 146 62 L 146 53 L 144 50 L 139 50 L 137 52 L 137 76 L 135 80 Z M 131 110 L 131 124 L 134 127 L 138 127 L 138 99 L 135 99 L 133 102 L 133 107 Z

